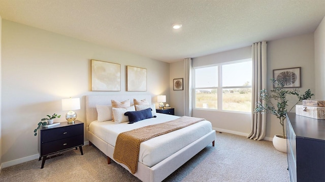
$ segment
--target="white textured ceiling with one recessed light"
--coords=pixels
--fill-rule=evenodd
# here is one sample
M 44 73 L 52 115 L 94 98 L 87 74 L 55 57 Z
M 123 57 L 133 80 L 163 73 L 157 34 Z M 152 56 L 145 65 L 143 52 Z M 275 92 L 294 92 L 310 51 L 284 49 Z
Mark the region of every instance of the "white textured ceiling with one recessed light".
M 0 15 L 171 63 L 314 32 L 325 0 L 0 0 Z

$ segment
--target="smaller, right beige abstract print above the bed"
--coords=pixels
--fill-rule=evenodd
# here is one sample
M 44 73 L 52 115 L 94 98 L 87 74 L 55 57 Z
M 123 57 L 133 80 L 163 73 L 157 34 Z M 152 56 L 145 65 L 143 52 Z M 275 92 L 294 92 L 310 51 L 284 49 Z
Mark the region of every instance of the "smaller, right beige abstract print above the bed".
M 147 69 L 126 66 L 127 91 L 147 91 Z

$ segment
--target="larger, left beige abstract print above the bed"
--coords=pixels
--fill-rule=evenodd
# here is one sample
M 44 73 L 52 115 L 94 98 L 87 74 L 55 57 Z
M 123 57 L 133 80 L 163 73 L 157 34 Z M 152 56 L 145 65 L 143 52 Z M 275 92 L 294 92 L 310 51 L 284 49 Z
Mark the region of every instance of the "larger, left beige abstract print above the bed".
M 91 60 L 91 90 L 121 91 L 121 65 Z

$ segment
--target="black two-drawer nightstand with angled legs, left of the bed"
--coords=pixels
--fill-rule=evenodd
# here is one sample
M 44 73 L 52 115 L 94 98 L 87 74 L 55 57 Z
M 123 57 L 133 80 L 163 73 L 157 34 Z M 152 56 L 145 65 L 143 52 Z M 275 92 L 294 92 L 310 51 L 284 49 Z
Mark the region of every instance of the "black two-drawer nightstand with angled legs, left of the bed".
M 51 127 L 42 127 L 38 131 L 38 150 L 40 158 L 43 157 L 42 167 L 46 157 L 65 150 L 79 147 L 83 155 L 83 122 L 75 120 L 74 123 L 60 122 L 60 124 Z

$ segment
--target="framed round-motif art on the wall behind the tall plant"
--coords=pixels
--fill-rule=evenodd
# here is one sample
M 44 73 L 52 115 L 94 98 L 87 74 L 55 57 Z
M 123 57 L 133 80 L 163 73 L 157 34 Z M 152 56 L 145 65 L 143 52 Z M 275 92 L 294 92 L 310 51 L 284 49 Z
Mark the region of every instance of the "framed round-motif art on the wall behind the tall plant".
M 301 67 L 273 70 L 273 78 L 283 82 L 284 87 L 301 87 Z M 274 85 L 273 85 L 274 86 Z

